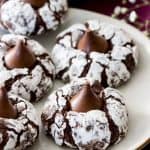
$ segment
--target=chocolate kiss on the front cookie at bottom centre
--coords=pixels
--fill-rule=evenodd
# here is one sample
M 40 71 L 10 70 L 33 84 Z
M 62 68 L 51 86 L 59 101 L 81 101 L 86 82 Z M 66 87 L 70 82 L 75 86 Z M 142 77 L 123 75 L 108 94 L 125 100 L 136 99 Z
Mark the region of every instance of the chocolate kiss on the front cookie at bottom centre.
M 103 101 L 93 92 L 89 84 L 84 85 L 82 89 L 70 100 L 71 110 L 76 112 L 88 112 L 94 109 L 101 109 Z

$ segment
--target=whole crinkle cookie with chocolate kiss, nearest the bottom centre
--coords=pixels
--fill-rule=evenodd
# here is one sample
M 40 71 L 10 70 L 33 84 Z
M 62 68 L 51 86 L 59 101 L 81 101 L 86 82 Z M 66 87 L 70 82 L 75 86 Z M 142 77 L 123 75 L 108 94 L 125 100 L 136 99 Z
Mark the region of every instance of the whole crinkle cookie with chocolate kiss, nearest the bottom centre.
M 58 145 L 104 150 L 128 130 L 124 98 L 112 88 L 74 80 L 53 92 L 41 115 L 44 130 Z

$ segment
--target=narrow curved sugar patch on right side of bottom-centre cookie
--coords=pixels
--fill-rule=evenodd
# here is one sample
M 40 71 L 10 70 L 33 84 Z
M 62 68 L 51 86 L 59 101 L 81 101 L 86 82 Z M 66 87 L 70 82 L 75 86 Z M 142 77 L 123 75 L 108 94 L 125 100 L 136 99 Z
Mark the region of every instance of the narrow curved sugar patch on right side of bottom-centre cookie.
M 119 127 L 119 141 L 121 139 L 121 136 L 126 134 L 128 130 L 128 114 L 126 106 L 123 102 L 124 98 L 120 95 L 119 91 L 112 88 L 107 88 L 105 90 L 105 94 L 107 97 L 106 103 L 108 113 L 114 123 Z

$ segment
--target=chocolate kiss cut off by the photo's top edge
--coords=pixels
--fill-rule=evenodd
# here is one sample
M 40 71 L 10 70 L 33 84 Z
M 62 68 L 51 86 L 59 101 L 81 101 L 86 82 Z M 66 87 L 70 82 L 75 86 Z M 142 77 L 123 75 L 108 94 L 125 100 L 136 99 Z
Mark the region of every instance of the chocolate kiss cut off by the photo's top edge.
M 24 0 L 24 2 L 30 3 L 35 8 L 40 8 L 46 3 L 47 0 Z

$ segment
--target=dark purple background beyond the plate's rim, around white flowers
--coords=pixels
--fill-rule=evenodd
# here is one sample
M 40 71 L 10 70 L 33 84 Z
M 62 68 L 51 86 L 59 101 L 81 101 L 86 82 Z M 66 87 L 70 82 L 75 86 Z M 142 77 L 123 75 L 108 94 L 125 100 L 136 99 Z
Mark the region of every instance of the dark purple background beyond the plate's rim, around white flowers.
M 125 19 L 150 37 L 150 0 L 136 0 L 134 4 L 130 2 L 124 4 L 122 0 L 69 0 L 69 5 L 74 8 L 91 10 L 109 16 L 112 16 L 116 6 L 126 7 L 128 11 L 123 15 L 116 16 L 116 18 Z M 128 20 L 132 11 L 135 11 L 138 15 L 134 23 Z M 150 144 L 143 150 L 150 150 Z

